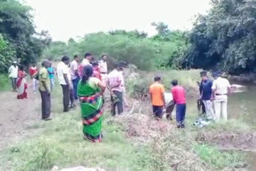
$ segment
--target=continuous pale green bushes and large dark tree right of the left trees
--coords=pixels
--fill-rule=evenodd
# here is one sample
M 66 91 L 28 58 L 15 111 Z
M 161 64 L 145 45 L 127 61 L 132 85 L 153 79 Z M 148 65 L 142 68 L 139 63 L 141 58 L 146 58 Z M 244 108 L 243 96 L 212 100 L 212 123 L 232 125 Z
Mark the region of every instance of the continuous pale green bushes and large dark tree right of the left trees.
M 154 37 L 135 31 L 116 30 L 88 34 L 78 42 L 54 42 L 46 58 L 92 52 L 109 54 L 114 60 L 134 63 L 141 70 L 153 68 L 222 69 L 231 74 L 256 70 L 256 2 L 212 0 L 212 9 L 198 16 L 190 32 L 171 30 L 164 23 L 152 23 Z

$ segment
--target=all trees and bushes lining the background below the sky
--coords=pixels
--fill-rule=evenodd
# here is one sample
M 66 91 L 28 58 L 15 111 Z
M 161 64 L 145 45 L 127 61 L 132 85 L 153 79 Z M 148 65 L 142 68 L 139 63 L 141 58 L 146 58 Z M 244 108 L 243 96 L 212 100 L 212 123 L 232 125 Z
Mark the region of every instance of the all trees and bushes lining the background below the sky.
M 171 30 L 162 22 L 152 23 L 158 34 L 114 30 L 87 34 L 78 41 L 53 42 L 46 31 L 34 30 L 30 7 L 16 0 L 0 2 L 0 72 L 13 58 L 29 65 L 43 58 L 59 59 L 66 54 L 95 57 L 108 54 L 111 62 L 134 63 L 140 70 L 222 69 L 231 74 L 254 72 L 256 64 L 256 2 L 212 0 L 208 14 L 198 16 L 189 32 Z

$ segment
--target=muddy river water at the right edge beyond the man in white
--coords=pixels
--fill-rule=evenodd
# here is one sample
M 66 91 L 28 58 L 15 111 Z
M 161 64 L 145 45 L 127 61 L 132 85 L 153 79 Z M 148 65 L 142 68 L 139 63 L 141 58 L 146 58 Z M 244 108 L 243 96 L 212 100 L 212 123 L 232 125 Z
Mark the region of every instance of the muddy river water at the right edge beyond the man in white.
M 256 124 L 256 84 L 248 82 L 232 82 L 232 84 L 246 85 L 247 91 L 233 93 L 228 101 L 228 118 L 238 119 L 249 125 Z M 187 113 L 197 113 L 196 99 L 187 101 Z M 249 156 L 250 171 L 256 170 L 256 152 L 245 152 Z

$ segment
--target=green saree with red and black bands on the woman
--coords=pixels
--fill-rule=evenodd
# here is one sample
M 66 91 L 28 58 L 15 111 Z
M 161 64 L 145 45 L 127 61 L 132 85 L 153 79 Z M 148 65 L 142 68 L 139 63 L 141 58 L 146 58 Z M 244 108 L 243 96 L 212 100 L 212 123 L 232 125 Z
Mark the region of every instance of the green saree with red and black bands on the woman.
M 83 134 L 86 140 L 102 141 L 102 96 L 100 89 L 92 87 L 88 82 L 78 83 L 78 97 L 82 110 Z

